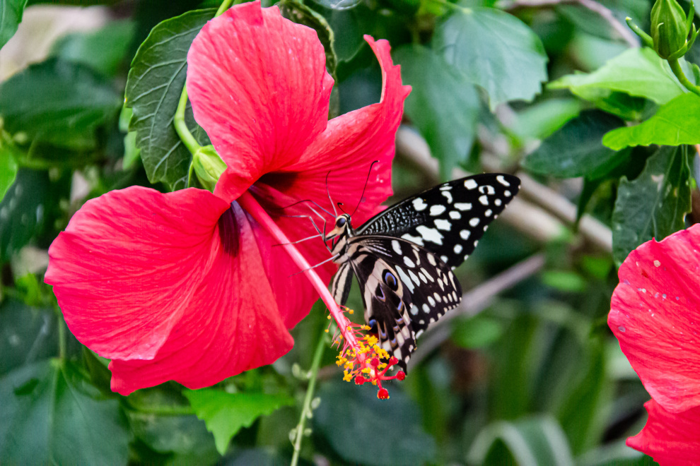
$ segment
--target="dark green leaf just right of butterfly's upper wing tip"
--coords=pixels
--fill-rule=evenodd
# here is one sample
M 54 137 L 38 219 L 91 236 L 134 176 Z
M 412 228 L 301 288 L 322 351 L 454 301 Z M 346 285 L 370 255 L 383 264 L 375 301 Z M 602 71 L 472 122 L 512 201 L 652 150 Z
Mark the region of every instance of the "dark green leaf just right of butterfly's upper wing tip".
M 624 126 L 624 121 L 605 112 L 588 110 L 542 141 L 523 160 L 531 172 L 554 177 L 574 178 L 593 174 L 617 157 L 600 142 L 608 131 Z

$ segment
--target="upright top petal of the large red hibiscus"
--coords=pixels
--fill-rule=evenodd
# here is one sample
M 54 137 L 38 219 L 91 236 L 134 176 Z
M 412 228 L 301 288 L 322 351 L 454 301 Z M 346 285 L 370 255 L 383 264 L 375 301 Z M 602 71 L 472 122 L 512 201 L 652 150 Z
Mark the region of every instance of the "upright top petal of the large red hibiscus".
M 313 29 L 260 2 L 209 21 L 187 54 L 194 119 L 234 175 L 233 195 L 288 165 L 325 129 L 333 78 Z

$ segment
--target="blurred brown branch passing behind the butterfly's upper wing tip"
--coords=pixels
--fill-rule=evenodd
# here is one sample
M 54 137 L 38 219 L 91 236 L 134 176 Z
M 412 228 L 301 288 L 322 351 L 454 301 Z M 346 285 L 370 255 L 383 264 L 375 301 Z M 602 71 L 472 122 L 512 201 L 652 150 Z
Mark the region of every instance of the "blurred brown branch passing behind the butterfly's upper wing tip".
M 418 133 L 403 127 L 399 128 L 396 133 L 396 150 L 404 160 L 419 167 L 428 177 L 433 180 L 438 179 L 438 160 L 431 157 L 430 148 Z M 494 165 L 491 164 L 487 168 L 498 169 Z M 453 171 L 455 178 L 467 175 L 468 173 L 460 168 L 455 168 Z M 576 222 L 576 205 L 556 191 L 537 183 L 524 172 L 518 172 L 516 175 L 522 181 L 520 193 L 523 196 L 513 199 L 498 220 L 503 220 L 538 241 L 546 242 L 566 237 L 567 227 L 561 220 L 573 225 Z M 579 232 L 590 244 L 594 244 L 603 251 L 612 251 L 612 232 L 590 215 L 583 215 Z

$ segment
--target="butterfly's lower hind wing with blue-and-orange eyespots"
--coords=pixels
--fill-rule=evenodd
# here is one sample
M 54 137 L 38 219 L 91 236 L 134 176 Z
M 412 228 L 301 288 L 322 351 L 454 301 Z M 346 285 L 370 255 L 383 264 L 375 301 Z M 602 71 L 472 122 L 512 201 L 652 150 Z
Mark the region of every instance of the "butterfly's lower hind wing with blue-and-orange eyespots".
M 401 238 L 352 237 L 347 263 L 363 290 L 365 321 L 405 371 L 416 337 L 460 304 L 459 282 L 433 253 Z

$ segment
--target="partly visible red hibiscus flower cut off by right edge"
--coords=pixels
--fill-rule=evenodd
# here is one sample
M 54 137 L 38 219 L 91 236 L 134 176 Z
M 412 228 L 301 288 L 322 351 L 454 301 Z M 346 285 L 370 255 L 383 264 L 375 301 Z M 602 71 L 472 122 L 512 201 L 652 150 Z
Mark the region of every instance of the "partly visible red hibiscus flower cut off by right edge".
M 608 325 L 652 400 L 627 444 L 661 464 L 700 462 L 700 225 L 647 241 L 619 268 Z

